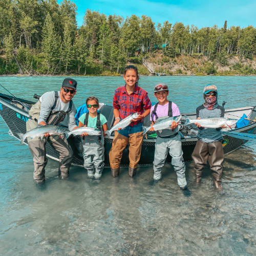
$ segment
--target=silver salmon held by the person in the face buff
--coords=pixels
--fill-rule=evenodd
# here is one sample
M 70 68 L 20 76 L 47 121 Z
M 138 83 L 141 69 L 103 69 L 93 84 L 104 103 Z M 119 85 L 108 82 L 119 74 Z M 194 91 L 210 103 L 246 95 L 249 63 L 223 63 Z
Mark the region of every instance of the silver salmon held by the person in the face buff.
M 238 120 L 225 118 L 225 117 L 209 117 L 209 118 L 202 118 L 202 119 L 189 119 L 189 117 L 185 116 L 186 121 L 184 125 L 188 125 L 191 123 L 200 123 L 205 128 L 219 128 L 223 125 L 231 126 L 235 124 Z

